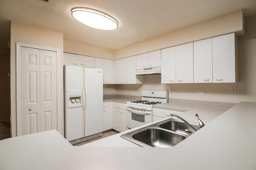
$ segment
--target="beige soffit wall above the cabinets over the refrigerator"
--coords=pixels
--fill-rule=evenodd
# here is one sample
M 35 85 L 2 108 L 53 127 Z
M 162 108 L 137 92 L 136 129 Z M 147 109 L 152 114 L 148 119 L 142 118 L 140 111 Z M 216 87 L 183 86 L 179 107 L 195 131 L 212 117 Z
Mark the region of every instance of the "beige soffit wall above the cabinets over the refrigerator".
M 114 60 L 114 51 L 64 39 L 64 52 Z

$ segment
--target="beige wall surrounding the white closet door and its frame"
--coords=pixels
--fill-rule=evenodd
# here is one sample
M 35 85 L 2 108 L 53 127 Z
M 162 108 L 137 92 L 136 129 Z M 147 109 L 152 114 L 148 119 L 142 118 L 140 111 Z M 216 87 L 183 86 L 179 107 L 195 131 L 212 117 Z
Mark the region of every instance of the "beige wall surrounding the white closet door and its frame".
M 17 135 L 16 127 L 16 42 L 44 47 L 60 49 L 60 65 L 63 65 L 63 33 L 27 25 L 24 23 L 11 22 L 11 116 L 12 137 Z M 60 82 L 63 82 L 63 67 L 60 67 Z M 63 85 L 60 85 L 63 92 Z M 61 134 L 64 135 L 64 97 L 60 93 Z

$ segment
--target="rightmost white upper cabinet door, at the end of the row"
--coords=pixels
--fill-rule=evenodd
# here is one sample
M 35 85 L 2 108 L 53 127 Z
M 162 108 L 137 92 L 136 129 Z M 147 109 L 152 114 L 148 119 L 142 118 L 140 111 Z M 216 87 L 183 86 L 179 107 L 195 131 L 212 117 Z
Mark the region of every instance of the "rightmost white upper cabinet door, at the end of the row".
M 213 82 L 236 82 L 234 33 L 212 38 Z

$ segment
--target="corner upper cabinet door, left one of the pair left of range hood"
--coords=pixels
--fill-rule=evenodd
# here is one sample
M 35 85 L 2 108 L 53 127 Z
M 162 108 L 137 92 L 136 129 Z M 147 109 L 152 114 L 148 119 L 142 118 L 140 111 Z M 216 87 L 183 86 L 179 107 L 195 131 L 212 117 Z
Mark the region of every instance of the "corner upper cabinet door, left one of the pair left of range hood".
M 124 60 L 115 60 L 115 84 L 124 84 Z

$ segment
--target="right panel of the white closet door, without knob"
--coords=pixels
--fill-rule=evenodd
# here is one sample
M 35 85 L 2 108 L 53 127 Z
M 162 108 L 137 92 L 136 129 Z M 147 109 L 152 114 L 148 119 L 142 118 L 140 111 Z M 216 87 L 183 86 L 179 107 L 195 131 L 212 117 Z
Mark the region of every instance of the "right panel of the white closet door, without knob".
M 41 131 L 57 130 L 57 53 L 40 50 Z

